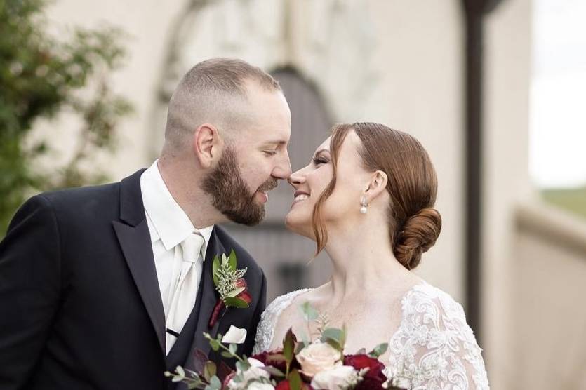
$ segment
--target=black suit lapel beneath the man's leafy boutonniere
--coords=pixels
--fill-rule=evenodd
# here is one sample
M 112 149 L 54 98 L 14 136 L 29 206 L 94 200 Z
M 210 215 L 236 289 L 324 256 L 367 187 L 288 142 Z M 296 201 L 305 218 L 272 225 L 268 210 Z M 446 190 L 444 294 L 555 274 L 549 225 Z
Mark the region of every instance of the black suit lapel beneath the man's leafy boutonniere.
M 201 275 L 201 304 L 199 306 L 199 315 L 197 318 L 197 328 L 195 330 L 195 335 L 193 338 L 192 347 L 189 349 L 189 356 L 187 356 L 187 363 L 186 367 L 193 369 L 194 367 L 194 351 L 196 349 L 201 350 L 208 355 L 210 351 L 210 343 L 204 337 L 204 332 L 207 332 L 211 335 L 211 337 L 215 337 L 218 333 L 218 328 L 220 327 L 221 317 L 216 321 L 215 325 L 212 329 L 208 328 L 208 322 L 210 321 L 210 317 L 213 311 L 213 307 L 215 303 L 218 302 L 218 293 L 215 290 L 215 285 L 213 284 L 212 278 L 212 262 L 213 258 L 216 255 L 220 255 L 221 253 L 226 253 L 224 246 L 220 242 L 217 234 L 216 229 L 214 227 L 212 234 L 210 236 L 210 243 L 206 250 L 206 261 L 204 262 L 204 271 Z

